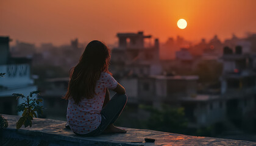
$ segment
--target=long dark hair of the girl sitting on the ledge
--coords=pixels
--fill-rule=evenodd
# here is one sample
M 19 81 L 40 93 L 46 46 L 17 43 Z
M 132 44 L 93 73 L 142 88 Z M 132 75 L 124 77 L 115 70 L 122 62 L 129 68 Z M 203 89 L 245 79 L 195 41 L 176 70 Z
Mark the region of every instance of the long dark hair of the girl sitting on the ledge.
M 72 97 L 78 104 L 82 98 L 92 99 L 94 97 L 96 82 L 101 72 L 108 71 L 110 61 L 110 49 L 101 41 L 91 41 L 85 47 L 84 53 L 79 59 L 79 63 L 72 68 L 68 91 L 63 99 Z

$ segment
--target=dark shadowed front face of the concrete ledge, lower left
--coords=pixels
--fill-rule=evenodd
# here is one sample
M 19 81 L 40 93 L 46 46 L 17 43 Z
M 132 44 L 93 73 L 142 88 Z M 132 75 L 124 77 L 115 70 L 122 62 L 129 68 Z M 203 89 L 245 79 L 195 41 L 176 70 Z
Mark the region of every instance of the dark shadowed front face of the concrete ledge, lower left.
M 112 142 L 112 141 L 95 141 L 91 139 L 80 139 L 79 136 L 63 136 L 59 134 L 44 133 L 41 131 L 31 131 L 31 130 L 16 130 L 14 128 L 5 128 L 0 131 L 0 139 L 12 139 L 13 141 L 24 140 L 30 141 L 31 144 L 39 145 L 41 142 L 48 144 L 57 145 L 106 145 L 106 146 L 135 146 L 143 144 L 127 144 L 124 142 Z M 43 137 L 43 138 L 42 138 Z

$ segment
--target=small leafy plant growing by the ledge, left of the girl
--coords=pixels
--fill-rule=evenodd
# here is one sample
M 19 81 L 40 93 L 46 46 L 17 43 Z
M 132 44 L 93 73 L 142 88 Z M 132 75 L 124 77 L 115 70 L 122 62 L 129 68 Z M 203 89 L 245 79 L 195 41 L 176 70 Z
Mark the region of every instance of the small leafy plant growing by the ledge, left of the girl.
M 39 92 L 40 91 L 32 91 L 27 97 L 23 94 L 12 94 L 16 99 L 20 98 L 24 100 L 24 103 L 18 105 L 17 110 L 23 111 L 23 114 L 16 123 L 16 129 L 20 129 L 22 125 L 24 125 L 25 128 L 28 126 L 32 127 L 33 117 L 37 117 L 37 114 L 42 113 L 43 106 L 39 106 L 39 103 L 43 102 L 43 100 L 34 98 Z M 35 112 L 37 112 L 37 114 Z

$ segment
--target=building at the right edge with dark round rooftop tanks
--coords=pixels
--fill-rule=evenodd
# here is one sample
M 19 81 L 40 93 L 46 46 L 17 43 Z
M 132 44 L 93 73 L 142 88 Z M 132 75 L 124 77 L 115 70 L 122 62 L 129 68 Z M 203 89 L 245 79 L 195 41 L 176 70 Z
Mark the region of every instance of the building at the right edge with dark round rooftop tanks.
M 238 120 L 256 105 L 256 73 L 254 54 L 245 54 L 241 46 L 224 47 L 222 56 L 221 96 L 226 100 L 229 120 Z

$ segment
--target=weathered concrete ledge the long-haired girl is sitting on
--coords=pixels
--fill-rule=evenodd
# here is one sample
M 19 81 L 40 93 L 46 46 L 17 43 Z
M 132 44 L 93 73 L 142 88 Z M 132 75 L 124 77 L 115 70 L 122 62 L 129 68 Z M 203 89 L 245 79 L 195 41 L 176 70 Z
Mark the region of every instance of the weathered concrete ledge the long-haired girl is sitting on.
M 256 145 L 256 142 L 197 137 L 152 130 L 126 128 L 126 134 L 102 134 L 98 137 L 76 136 L 64 121 L 35 118 L 31 128 L 16 130 L 20 116 L 3 115 L 9 128 L 0 132 L 1 145 Z M 154 143 L 144 138 L 155 139 Z

